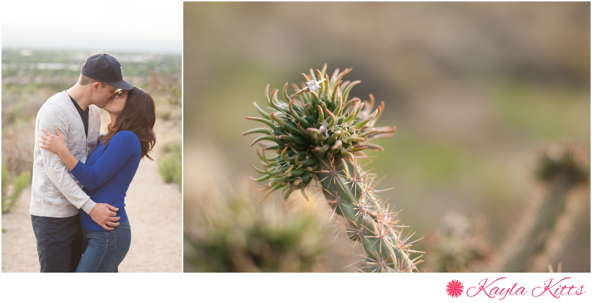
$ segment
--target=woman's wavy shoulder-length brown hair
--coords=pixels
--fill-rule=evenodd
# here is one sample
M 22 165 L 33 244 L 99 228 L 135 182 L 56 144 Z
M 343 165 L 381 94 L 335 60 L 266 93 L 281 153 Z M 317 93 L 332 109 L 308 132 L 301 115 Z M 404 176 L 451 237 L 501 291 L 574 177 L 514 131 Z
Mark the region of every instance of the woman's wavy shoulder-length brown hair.
M 128 130 L 136 134 L 142 147 L 141 158 L 146 156 L 153 160 L 148 153 L 152 151 L 156 143 L 154 123 L 156 121 L 156 105 L 154 99 L 147 92 L 134 86 L 127 92 L 126 105 L 113 121 L 109 121 L 105 127 L 107 134 L 101 136 L 101 142 L 107 144 L 109 140 L 122 130 Z M 140 159 L 141 159 L 140 158 Z

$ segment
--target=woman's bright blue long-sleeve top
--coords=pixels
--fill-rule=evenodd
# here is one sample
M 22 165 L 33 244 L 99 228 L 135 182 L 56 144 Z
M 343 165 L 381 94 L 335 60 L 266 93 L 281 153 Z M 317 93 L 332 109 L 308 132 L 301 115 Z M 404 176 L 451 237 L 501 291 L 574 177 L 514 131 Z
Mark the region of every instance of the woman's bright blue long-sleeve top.
M 100 137 L 99 137 L 100 138 Z M 120 131 L 107 144 L 98 144 L 88 155 L 86 164 L 80 160 L 71 173 L 84 186 L 83 190 L 96 203 L 107 203 L 119 208 L 119 221 L 127 220 L 126 197 L 131 180 L 140 164 L 140 139 L 131 131 Z M 80 225 L 85 230 L 102 231 L 91 216 L 79 209 Z

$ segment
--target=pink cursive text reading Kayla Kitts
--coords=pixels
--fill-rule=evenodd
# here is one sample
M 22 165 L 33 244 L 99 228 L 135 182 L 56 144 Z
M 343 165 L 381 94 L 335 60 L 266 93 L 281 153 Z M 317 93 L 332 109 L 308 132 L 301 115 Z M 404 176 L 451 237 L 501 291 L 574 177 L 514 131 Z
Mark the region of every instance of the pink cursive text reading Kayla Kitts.
M 514 283 L 511 287 L 505 287 L 503 283 L 507 281 L 500 281 L 503 279 L 506 279 L 506 277 L 498 278 L 490 283 L 487 283 L 488 279 L 483 279 L 479 282 L 478 287 L 472 286 L 466 289 L 466 295 L 476 296 L 482 294 L 490 298 L 496 298 L 497 296 L 501 300 L 506 298 L 507 295 L 532 295 L 538 297 L 548 294 L 554 298 L 559 298 L 562 295 L 581 295 L 585 293 L 584 285 L 569 285 L 571 277 L 563 278 L 555 283 L 553 279 L 548 279 L 543 283 L 543 286 L 536 286 L 530 291 L 523 286 L 519 286 L 518 283 Z M 502 288 L 501 286 L 504 287 Z

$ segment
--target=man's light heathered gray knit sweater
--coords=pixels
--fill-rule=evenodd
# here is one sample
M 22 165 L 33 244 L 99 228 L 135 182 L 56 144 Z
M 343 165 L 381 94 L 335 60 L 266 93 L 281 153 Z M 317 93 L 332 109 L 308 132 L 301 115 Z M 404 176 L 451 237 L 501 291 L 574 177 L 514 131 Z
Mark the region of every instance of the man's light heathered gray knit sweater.
M 78 214 L 78 208 L 91 212 L 95 202 L 82 191 L 82 184 L 57 153 L 39 147 L 38 133 L 43 127 L 55 134 L 55 127 L 66 140 L 66 146 L 76 157 L 86 163 L 86 157 L 96 147 L 101 128 L 101 109 L 89 105 L 88 138 L 82 118 L 65 91 L 49 98 L 37 113 L 35 122 L 35 150 L 33 183 L 31 185 L 31 215 L 65 218 Z

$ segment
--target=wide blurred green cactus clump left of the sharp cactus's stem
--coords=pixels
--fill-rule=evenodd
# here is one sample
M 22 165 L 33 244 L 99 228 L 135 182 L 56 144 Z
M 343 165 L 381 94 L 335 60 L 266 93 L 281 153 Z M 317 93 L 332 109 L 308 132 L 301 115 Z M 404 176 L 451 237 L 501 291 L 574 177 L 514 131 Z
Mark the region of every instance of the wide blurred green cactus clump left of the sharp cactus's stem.
M 326 251 L 327 236 L 317 212 L 286 211 L 279 201 L 256 204 L 249 199 L 252 195 L 209 195 L 200 201 L 194 218 L 200 228 L 185 233 L 185 272 L 316 269 Z

